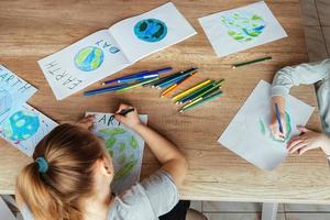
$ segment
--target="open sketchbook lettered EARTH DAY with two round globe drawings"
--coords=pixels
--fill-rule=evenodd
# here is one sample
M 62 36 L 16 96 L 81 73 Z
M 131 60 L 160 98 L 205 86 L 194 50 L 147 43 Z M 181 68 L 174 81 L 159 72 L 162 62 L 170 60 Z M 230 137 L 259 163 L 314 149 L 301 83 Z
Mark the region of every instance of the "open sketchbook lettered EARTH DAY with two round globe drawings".
M 98 31 L 38 65 L 61 100 L 194 34 L 194 28 L 169 2 Z

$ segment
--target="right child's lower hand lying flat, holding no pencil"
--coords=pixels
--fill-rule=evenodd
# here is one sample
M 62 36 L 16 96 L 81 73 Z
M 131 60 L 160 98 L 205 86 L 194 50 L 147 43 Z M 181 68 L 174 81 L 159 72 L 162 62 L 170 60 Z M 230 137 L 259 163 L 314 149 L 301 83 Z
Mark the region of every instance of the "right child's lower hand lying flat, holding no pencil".
M 304 127 L 297 128 L 301 132 L 301 134 L 298 136 L 294 136 L 287 143 L 287 150 L 289 153 L 298 153 L 299 155 L 301 155 L 309 150 L 321 147 L 323 152 L 329 155 L 330 140 L 328 136 L 326 136 L 326 134 L 310 131 Z

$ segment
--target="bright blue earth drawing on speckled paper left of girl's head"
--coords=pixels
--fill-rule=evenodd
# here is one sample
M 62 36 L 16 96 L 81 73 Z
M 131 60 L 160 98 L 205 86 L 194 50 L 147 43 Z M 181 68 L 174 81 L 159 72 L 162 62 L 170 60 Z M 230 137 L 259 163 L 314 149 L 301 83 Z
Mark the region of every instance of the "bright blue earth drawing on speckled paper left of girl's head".
M 24 141 L 33 136 L 40 128 L 38 117 L 20 110 L 3 122 L 3 135 L 11 141 Z

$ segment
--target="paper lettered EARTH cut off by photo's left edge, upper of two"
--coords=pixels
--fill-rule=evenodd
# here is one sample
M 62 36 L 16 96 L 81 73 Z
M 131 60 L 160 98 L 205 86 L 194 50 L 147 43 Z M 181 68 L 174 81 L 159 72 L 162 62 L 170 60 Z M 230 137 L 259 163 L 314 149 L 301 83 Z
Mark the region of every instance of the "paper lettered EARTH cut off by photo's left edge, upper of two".
M 0 122 L 26 102 L 36 90 L 24 79 L 0 65 Z

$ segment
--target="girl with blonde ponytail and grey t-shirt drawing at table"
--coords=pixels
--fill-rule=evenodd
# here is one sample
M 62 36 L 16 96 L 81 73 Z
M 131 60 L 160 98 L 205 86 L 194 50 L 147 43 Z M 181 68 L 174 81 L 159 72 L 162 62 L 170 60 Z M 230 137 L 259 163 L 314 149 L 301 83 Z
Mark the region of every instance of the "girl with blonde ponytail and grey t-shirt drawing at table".
M 121 105 L 118 112 L 127 108 Z M 34 162 L 18 176 L 16 200 L 25 220 L 166 219 L 165 213 L 178 202 L 186 160 L 170 142 L 141 123 L 136 110 L 116 118 L 145 140 L 161 169 L 113 195 L 111 158 L 103 141 L 89 131 L 94 118 L 58 125 L 37 144 Z

